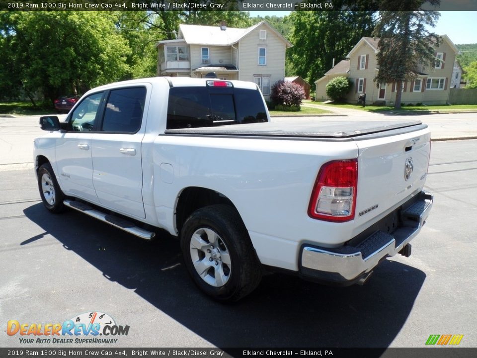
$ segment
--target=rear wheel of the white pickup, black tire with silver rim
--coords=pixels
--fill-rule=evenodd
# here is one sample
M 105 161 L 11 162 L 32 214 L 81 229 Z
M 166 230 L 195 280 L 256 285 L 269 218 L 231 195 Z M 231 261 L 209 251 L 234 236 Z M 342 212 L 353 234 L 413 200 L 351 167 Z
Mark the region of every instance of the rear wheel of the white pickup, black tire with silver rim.
M 182 227 L 180 244 L 192 279 L 215 300 L 237 301 L 260 283 L 260 263 L 239 213 L 230 205 L 194 211 Z

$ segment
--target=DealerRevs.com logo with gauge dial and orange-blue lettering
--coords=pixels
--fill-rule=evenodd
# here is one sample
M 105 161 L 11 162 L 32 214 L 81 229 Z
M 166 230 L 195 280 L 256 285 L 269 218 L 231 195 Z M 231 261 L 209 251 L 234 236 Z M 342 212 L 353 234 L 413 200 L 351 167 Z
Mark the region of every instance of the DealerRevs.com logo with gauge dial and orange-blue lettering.
M 127 336 L 129 326 L 119 326 L 114 319 L 102 312 L 86 312 L 63 323 L 7 322 L 8 336 L 20 336 L 20 343 L 53 344 L 114 344 L 117 336 Z M 101 336 L 101 337 L 99 337 Z

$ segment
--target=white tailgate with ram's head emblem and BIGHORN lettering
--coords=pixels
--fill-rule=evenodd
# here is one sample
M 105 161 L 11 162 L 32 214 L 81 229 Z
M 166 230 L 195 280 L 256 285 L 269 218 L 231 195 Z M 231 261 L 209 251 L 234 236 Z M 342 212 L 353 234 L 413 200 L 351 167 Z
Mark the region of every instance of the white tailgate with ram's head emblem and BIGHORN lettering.
M 356 232 L 418 194 L 424 186 L 430 155 L 429 129 L 393 132 L 398 130 L 386 132 L 381 138 L 354 139 L 359 149 Z

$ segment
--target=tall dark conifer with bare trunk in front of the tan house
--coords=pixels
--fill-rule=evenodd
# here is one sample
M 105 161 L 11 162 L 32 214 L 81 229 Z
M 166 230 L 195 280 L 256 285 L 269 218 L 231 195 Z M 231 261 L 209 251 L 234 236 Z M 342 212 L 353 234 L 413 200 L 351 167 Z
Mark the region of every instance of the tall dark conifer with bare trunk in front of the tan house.
M 377 55 L 379 71 L 373 81 L 397 84 L 395 108 L 401 106 L 402 83 L 417 78 L 418 72 L 435 63 L 434 49 L 439 45 L 439 37 L 428 31 L 425 25 L 434 27 L 440 14 L 438 11 L 421 10 L 424 2 L 435 5 L 440 1 L 394 1 L 393 6 L 403 10 L 380 11 L 373 31 L 373 35 L 380 38 Z M 383 6 L 386 7 L 386 3 L 387 0 L 383 1 Z

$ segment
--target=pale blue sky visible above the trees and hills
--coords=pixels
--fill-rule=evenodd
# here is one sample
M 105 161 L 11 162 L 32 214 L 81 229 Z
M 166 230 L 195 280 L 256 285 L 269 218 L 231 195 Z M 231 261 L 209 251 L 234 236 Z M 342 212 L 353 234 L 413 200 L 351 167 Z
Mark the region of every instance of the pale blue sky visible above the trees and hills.
M 454 44 L 477 43 L 477 11 L 440 11 L 433 32 L 447 35 Z M 250 16 L 284 16 L 290 11 L 250 11 Z

